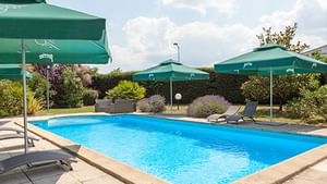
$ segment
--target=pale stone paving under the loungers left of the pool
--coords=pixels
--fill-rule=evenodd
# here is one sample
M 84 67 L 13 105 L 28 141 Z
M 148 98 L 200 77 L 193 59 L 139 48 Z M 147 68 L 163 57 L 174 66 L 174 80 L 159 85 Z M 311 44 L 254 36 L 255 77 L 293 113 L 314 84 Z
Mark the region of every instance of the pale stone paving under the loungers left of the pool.
M 0 121 L 0 126 L 19 127 L 13 123 Z M 8 132 L 0 132 L 7 134 Z M 32 133 L 31 133 L 32 134 Z M 34 135 L 36 136 L 36 135 Z M 24 140 L 10 139 L 0 140 L 0 160 L 23 154 Z M 41 139 L 35 142 L 35 147 L 29 150 L 60 150 L 51 143 Z M 63 151 L 63 150 L 61 150 Z M 60 165 L 46 165 L 39 168 L 27 169 L 25 167 L 17 168 L 8 173 L 0 174 L 1 184 L 123 184 L 116 177 L 87 164 L 81 159 L 76 163 L 72 163 L 73 171 L 65 171 Z

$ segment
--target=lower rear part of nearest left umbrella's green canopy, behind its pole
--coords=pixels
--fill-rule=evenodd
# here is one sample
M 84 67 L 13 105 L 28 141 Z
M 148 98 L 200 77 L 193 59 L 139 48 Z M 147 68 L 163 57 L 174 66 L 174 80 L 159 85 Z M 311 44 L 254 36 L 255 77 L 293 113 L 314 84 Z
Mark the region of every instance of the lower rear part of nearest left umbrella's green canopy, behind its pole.
M 106 64 L 110 58 L 106 35 L 99 40 L 26 39 L 25 48 L 26 63 Z M 22 63 L 21 50 L 20 39 L 0 38 L 0 64 Z

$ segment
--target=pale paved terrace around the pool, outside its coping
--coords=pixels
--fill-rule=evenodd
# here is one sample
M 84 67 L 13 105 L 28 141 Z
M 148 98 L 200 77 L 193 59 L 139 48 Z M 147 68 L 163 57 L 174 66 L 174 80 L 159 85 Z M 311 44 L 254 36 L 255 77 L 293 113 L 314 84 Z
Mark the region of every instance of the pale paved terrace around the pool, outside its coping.
M 173 118 L 187 121 L 196 121 L 207 123 L 205 119 L 192 119 L 183 115 L 173 115 L 166 118 Z M 1 123 L 2 122 L 2 123 Z M 4 122 L 0 120 L 0 126 L 16 126 L 12 122 Z M 261 130 L 272 130 L 272 131 L 284 131 L 302 134 L 312 134 L 327 136 L 327 128 L 319 128 L 307 125 L 263 125 L 256 123 L 244 123 L 239 125 L 231 126 L 245 126 Z M 0 133 L 1 134 L 1 133 Z M 2 133 L 3 134 L 3 133 Z M 1 140 L 0 142 L 0 160 L 12 157 L 17 154 L 23 152 L 23 140 Z M 35 143 L 36 146 L 31 148 L 31 150 L 44 150 L 44 149 L 56 149 L 60 150 L 59 147 L 52 145 L 51 143 L 40 139 Z M 62 151 L 62 150 L 61 150 Z M 326 155 L 327 152 L 323 152 Z M 12 172 L 0 175 L 1 184 L 121 184 L 119 180 L 116 180 L 113 176 L 101 172 L 100 170 L 87 164 L 83 160 L 76 159 L 77 163 L 73 163 L 74 171 L 64 171 L 58 165 L 44 167 L 26 170 L 25 168 L 19 168 Z M 258 180 L 256 183 L 266 184 L 263 180 Z M 290 177 L 284 184 L 325 184 L 327 183 L 327 159 L 315 163 L 312 167 L 308 167 L 304 171 L 298 173 L 296 175 Z

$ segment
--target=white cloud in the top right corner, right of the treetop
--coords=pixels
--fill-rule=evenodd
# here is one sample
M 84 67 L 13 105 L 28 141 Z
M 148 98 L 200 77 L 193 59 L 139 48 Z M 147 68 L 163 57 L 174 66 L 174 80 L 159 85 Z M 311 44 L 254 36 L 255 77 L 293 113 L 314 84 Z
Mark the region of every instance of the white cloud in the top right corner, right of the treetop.
M 327 40 L 327 1 L 298 0 L 291 11 L 276 11 L 259 19 L 261 26 L 271 26 L 275 30 L 299 23 L 296 39 L 308 42 L 312 48 L 326 44 Z

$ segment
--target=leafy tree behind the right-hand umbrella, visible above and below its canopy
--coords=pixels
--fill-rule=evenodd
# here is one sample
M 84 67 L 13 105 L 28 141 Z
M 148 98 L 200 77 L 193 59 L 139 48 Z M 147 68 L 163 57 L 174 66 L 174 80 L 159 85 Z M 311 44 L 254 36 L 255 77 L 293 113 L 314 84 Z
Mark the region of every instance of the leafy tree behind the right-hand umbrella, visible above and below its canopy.
M 263 27 L 263 33 L 257 35 L 261 45 L 278 44 L 294 52 L 302 52 L 308 45 L 298 40 L 293 42 L 298 24 L 286 26 L 283 30 L 272 32 L 271 27 Z M 279 110 L 282 105 L 292 97 L 298 97 L 300 89 L 315 89 L 318 87 L 316 75 L 281 75 L 274 77 L 274 98 L 279 102 Z M 267 100 L 269 98 L 269 78 L 252 76 L 242 85 L 243 95 L 252 100 Z

